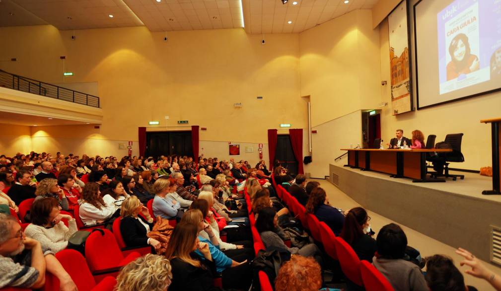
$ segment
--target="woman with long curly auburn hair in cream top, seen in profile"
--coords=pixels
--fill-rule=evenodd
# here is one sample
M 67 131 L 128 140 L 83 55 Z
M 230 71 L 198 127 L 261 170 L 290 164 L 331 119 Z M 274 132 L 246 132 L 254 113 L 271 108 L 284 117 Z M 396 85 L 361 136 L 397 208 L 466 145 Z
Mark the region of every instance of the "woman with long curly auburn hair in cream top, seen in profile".
M 116 211 L 115 205 L 106 204 L 101 197 L 99 184 L 90 182 L 85 185 L 80 204 L 80 218 L 86 226 L 103 223 L 110 219 Z

